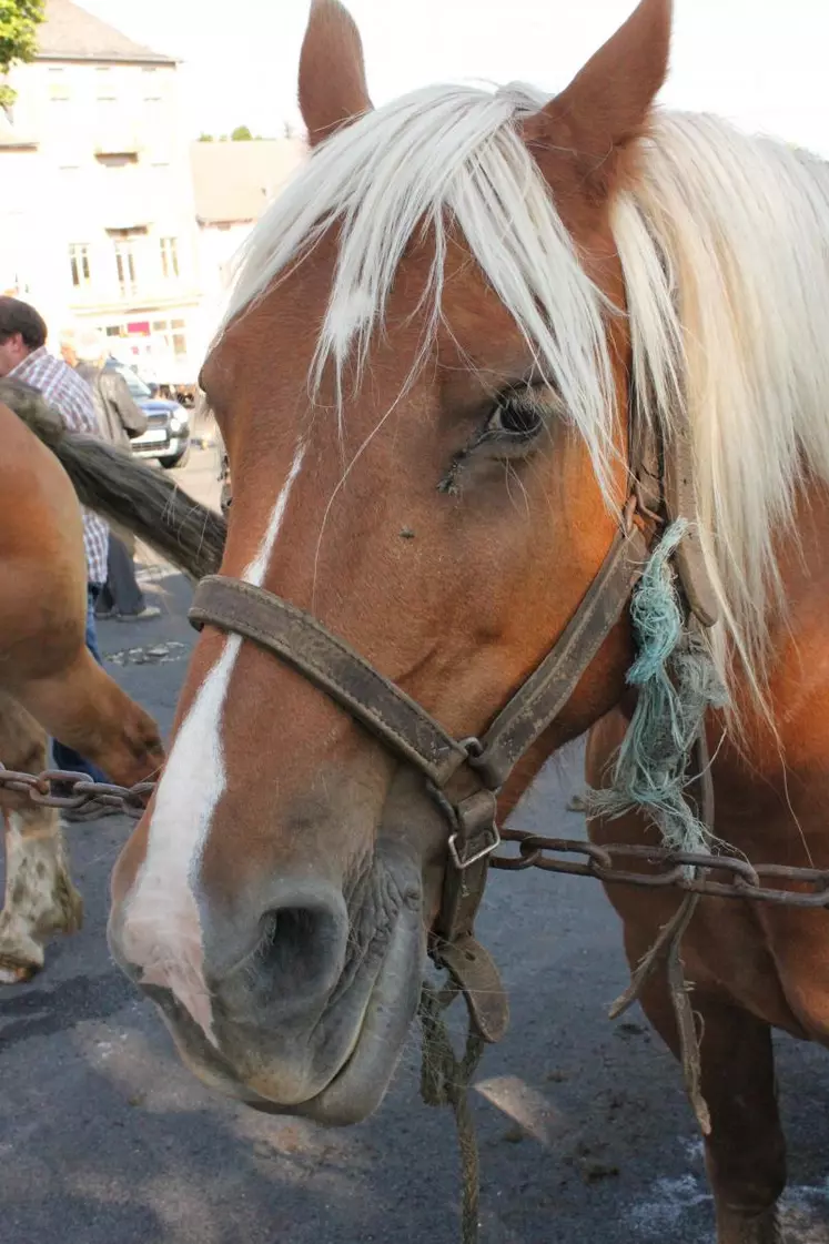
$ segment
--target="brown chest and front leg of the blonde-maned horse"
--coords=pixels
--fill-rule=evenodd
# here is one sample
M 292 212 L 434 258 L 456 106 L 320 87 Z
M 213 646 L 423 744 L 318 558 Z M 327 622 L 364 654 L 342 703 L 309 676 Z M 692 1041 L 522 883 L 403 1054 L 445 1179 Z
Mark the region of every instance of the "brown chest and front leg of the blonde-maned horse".
M 798 508 L 799 549 L 784 546 L 785 623 L 774 629 L 769 704 L 779 734 L 748 715 L 741 745 L 710 723 L 716 832 L 754 863 L 829 867 L 829 499 L 814 490 Z M 588 743 L 588 780 L 600 786 L 627 728 L 616 709 Z M 780 754 L 784 739 L 784 760 Z M 644 815 L 592 821 L 595 842 L 656 842 Z M 607 888 L 631 968 L 677 908 L 670 893 Z M 772 1029 L 829 1045 L 829 917 L 825 911 L 705 898 L 682 943 L 701 1033 L 702 1095 L 711 1112 L 706 1159 L 719 1244 L 777 1244 L 785 1143 L 777 1102 Z M 645 1013 L 678 1056 L 663 973 L 646 985 Z

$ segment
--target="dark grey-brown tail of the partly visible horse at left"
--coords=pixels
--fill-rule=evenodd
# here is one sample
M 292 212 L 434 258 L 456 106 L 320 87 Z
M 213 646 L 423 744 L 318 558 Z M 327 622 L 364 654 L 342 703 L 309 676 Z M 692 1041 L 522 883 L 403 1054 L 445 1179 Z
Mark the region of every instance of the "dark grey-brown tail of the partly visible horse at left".
M 227 536 L 222 515 L 129 453 L 68 430 L 30 384 L 0 381 L 0 402 L 52 450 L 82 505 L 127 527 L 192 578 L 215 573 Z

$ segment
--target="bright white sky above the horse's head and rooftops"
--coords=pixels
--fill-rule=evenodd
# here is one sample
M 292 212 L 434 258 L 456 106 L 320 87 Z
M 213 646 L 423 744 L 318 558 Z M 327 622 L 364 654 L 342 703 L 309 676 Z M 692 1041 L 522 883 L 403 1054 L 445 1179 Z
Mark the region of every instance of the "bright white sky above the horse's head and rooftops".
M 156 51 L 180 57 L 188 133 L 296 124 L 309 0 L 81 0 Z M 368 87 L 383 103 L 438 81 L 566 85 L 632 0 L 350 0 Z M 829 157 L 829 2 L 675 0 L 671 107 L 717 112 Z

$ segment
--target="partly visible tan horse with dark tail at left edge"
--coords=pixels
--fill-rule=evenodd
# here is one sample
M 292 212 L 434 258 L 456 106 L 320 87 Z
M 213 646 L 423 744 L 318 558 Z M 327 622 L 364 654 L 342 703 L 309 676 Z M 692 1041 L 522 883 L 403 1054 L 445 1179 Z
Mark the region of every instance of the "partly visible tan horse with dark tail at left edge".
M 212 518 L 205 532 L 202 508 L 194 510 L 164 481 L 157 484 L 154 473 L 86 438 L 63 437 L 60 417 L 25 387 L 4 382 L 0 393 L 54 443 L 54 450 L 46 448 L 0 404 L 0 760 L 7 769 L 40 773 L 47 766 L 50 733 L 113 781 L 132 786 L 157 773 L 162 741 L 153 719 L 86 647 L 81 511 L 55 454 L 66 460 L 87 500 L 97 496 L 112 516 L 144 537 L 154 535 L 153 542 L 167 546 L 184 569 L 210 569 L 210 550 L 215 555 L 220 541 L 217 546 Z M 192 535 L 182 539 L 185 529 Z M 207 535 L 205 547 L 199 532 Z M 70 880 L 57 810 L 0 789 L 0 814 L 6 821 L 0 982 L 10 984 L 42 967 L 51 934 L 78 927 L 82 904 Z

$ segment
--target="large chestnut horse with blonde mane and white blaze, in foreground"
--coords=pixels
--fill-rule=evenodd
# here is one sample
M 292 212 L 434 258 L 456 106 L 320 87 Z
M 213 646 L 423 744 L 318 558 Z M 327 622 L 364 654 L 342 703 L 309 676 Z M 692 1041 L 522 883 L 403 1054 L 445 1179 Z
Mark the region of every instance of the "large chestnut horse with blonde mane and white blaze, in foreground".
M 422 749 L 403 760 L 388 720 L 300 674 L 330 673 L 336 646 L 259 588 L 444 738 L 485 730 L 590 600 L 620 516 L 653 547 L 636 418 L 670 454 L 690 428 L 710 652 L 733 702 L 708 715 L 717 835 L 829 867 L 829 172 L 656 112 L 670 31 L 670 0 L 642 0 L 553 100 L 441 87 L 372 109 L 354 24 L 312 5 L 314 152 L 254 231 L 203 369 L 234 483 L 223 576 L 249 586 L 218 624 L 202 611 L 110 929 L 187 1062 L 260 1108 L 339 1123 L 376 1107 L 452 865 Z M 265 651 L 274 620 L 299 634 L 288 661 Z M 634 654 L 620 611 L 508 773 L 502 817 L 589 728 L 605 780 Z M 591 832 L 655 835 L 639 814 Z M 677 897 L 612 899 L 635 964 Z M 721 1244 L 780 1238 L 770 1028 L 829 1036 L 827 935 L 823 912 L 713 898 L 691 924 Z M 644 1001 L 676 1050 L 665 982 Z

